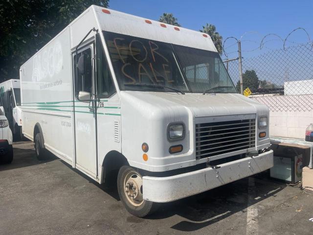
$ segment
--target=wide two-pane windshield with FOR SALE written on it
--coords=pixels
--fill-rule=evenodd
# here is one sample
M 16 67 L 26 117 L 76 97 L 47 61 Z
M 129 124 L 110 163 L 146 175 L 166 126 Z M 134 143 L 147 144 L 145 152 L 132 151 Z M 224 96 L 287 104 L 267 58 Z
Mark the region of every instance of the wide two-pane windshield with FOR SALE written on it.
M 120 90 L 237 93 L 217 52 L 105 31 Z

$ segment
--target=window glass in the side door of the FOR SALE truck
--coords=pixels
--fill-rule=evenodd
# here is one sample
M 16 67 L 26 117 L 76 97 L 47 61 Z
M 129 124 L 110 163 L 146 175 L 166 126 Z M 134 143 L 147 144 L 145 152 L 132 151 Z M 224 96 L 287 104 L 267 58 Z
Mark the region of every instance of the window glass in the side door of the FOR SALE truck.
M 83 56 L 83 58 L 81 58 Z M 76 69 L 76 55 L 74 56 L 74 76 L 75 76 L 75 94 L 79 92 L 89 92 L 92 94 L 92 56 L 91 48 L 87 48 L 78 53 L 78 60 L 81 58 L 83 61 L 83 72 Z

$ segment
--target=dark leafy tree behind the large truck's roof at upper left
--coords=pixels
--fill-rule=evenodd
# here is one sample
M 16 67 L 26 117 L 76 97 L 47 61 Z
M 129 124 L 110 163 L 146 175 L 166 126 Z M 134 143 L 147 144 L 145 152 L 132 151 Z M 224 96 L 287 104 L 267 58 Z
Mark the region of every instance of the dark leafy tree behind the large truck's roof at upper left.
M 90 5 L 109 0 L 0 1 L 0 82 L 19 78 L 21 65 Z

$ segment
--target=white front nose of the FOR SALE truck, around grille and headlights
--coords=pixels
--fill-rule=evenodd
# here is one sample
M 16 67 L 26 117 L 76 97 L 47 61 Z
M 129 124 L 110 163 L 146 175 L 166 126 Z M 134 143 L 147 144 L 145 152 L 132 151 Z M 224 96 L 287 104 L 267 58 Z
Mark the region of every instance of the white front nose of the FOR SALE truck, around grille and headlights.
M 256 118 L 268 115 L 268 109 L 241 94 L 176 94 L 162 92 L 122 91 L 122 153 L 129 163 L 149 171 L 165 171 L 200 164 L 206 159 L 196 160 L 195 123 L 231 120 L 232 118 Z M 243 98 L 242 98 L 243 97 Z M 169 142 L 167 125 L 183 122 L 186 128 L 185 139 Z M 267 131 L 267 129 L 262 129 Z M 260 130 L 256 128 L 257 135 Z M 150 133 L 153 133 L 150 135 Z M 269 137 L 269 135 L 268 135 Z M 268 144 L 269 138 L 256 138 L 257 150 L 260 144 Z M 148 161 L 142 159 L 141 144 L 148 143 Z M 182 144 L 183 151 L 169 154 L 169 147 Z M 224 154 L 229 157 L 245 153 L 246 150 Z

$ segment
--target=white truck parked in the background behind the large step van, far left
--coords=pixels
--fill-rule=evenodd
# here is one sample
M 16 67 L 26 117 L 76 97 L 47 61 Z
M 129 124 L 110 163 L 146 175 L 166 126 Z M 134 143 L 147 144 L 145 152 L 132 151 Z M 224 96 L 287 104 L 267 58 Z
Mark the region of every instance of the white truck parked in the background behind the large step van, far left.
M 15 140 L 22 140 L 20 80 L 10 79 L 0 83 L 0 98 Z

